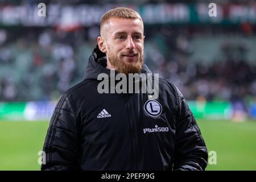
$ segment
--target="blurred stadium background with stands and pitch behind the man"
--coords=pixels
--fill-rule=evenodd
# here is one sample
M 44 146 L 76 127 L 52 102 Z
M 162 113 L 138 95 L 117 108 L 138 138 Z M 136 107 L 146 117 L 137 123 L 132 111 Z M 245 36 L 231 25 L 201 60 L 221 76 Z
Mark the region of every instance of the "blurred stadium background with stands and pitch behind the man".
M 56 101 L 82 80 L 101 16 L 119 6 L 142 15 L 145 63 L 181 90 L 216 152 L 207 170 L 256 170 L 256 2 L 246 0 L 0 1 L 0 170 L 40 169 Z

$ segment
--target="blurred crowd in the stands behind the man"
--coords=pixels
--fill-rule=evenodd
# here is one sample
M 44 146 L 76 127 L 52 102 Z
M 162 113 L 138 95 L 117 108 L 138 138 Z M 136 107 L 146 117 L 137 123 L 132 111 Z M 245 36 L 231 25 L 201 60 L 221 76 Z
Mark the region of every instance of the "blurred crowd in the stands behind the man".
M 173 82 L 187 100 L 252 101 L 256 96 L 256 64 L 246 60 L 251 45 L 222 43 L 220 54 L 192 60 L 200 47 L 195 40 L 232 35 L 250 43 L 253 31 L 230 27 L 145 27 L 144 61 L 154 73 Z M 88 58 L 97 44 L 99 27 L 72 31 L 57 28 L 0 29 L 0 100 L 57 100 L 81 81 Z M 255 40 L 255 39 L 254 39 Z M 207 40 L 206 46 L 212 44 Z M 211 60 L 212 59 L 212 60 Z M 254 57 L 256 63 L 256 57 Z

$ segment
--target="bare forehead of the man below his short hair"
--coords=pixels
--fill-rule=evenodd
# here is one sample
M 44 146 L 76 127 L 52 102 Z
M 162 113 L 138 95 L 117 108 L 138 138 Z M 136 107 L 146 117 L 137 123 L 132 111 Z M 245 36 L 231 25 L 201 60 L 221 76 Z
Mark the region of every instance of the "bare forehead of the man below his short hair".
M 103 27 L 111 33 L 129 30 L 139 31 L 143 34 L 143 23 L 138 18 L 110 18 L 104 23 Z

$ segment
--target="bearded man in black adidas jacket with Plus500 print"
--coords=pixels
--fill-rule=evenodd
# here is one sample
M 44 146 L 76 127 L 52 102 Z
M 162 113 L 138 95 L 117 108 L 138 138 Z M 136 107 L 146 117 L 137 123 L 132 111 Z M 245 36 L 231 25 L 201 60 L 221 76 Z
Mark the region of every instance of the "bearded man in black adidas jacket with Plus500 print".
M 205 169 L 207 147 L 173 84 L 159 78 L 155 100 L 149 93 L 98 92 L 101 73 L 151 73 L 143 43 L 136 11 L 117 8 L 102 16 L 84 80 L 61 96 L 52 115 L 42 170 Z

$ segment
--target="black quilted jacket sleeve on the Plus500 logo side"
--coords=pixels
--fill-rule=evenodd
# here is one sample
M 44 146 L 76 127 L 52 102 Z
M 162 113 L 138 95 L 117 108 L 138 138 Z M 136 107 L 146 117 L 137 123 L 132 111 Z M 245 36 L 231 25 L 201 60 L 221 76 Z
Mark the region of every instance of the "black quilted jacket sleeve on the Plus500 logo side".
M 207 167 L 208 152 L 195 117 L 177 89 L 174 171 L 202 171 Z

